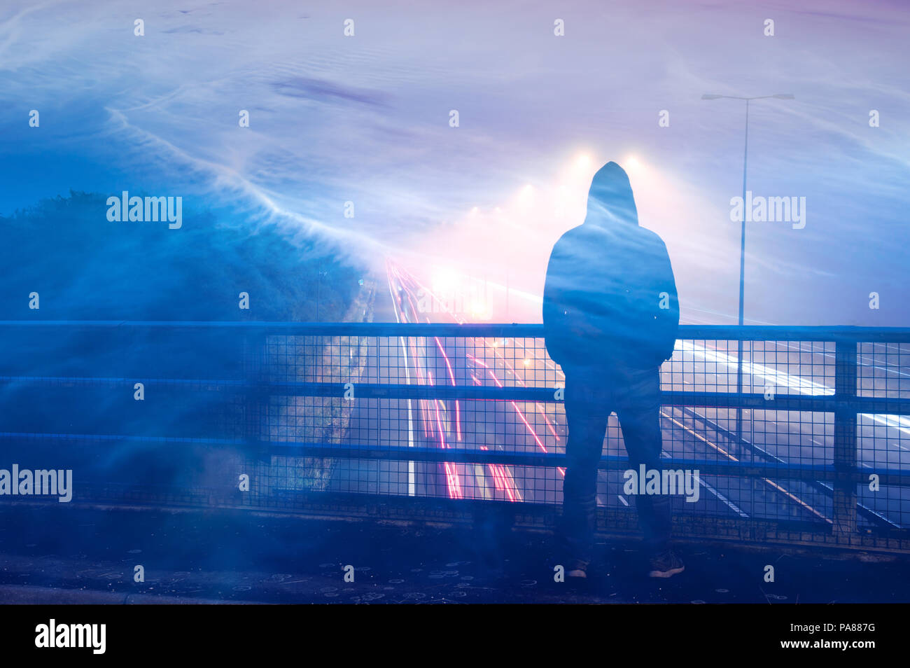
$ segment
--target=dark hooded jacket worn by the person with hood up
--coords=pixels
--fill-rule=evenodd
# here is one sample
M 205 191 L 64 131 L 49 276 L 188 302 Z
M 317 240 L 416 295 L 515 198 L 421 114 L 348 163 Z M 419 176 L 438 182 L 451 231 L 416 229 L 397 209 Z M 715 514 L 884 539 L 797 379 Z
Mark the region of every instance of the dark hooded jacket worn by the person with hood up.
M 561 367 L 620 375 L 672 355 L 679 301 L 663 241 L 638 225 L 629 177 L 594 175 L 584 223 L 562 235 L 543 290 L 547 351 Z

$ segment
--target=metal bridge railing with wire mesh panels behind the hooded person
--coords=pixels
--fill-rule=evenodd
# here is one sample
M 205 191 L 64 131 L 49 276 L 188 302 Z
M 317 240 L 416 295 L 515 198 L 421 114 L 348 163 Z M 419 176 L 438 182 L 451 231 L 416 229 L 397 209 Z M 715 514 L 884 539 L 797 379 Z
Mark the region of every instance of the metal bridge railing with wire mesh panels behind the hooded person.
M 679 337 L 663 461 L 700 486 L 674 499 L 677 535 L 910 551 L 910 329 Z M 6 459 L 72 469 L 75 502 L 558 515 L 563 378 L 540 325 L 37 320 L 0 341 Z M 634 531 L 613 420 L 599 466 L 602 531 Z

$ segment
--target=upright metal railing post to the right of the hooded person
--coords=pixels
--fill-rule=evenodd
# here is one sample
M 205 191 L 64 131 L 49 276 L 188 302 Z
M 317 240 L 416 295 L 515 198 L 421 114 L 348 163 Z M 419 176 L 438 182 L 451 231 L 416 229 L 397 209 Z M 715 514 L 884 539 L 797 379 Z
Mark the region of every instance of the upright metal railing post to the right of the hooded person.
M 834 538 L 849 543 L 856 536 L 856 407 L 844 402 L 856 398 L 856 341 L 834 343 Z

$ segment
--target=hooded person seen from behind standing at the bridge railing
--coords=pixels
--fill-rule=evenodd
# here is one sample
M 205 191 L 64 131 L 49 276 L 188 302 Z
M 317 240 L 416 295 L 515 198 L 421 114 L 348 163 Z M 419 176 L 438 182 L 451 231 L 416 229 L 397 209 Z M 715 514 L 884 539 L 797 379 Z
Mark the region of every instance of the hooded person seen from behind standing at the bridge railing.
M 612 411 L 635 471 L 661 471 L 660 367 L 672 356 L 679 301 L 663 241 L 640 228 L 625 171 L 594 175 L 584 223 L 562 235 L 543 291 L 547 350 L 565 373 L 569 426 L 561 538 L 573 578 L 586 577 L 594 548 L 597 464 Z M 670 577 L 670 498 L 635 497 L 649 574 Z

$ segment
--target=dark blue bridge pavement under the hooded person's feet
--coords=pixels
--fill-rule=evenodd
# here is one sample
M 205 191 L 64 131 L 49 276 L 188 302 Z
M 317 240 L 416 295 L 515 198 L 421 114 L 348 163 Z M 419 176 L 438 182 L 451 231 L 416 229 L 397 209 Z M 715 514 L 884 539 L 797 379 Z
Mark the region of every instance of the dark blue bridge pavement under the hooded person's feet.
M 657 581 L 615 541 L 577 587 L 555 582 L 546 532 L 8 503 L 0 527 L 5 603 L 910 602 L 908 560 L 863 553 L 686 544 Z

